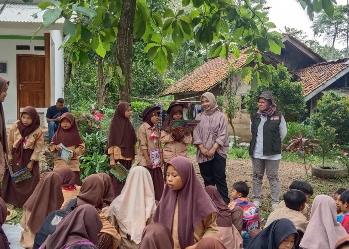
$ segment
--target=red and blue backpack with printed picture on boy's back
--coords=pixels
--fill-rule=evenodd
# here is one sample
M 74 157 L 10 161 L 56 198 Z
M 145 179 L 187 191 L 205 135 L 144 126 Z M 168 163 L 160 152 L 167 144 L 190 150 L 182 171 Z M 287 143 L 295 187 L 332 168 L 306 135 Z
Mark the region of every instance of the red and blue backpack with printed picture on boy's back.
M 239 199 L 234 201 L 237 202 L 236 206 L 241 207 L 243 210 L 242 231 L 250 233 L 252 229 L 259 229 L 261 219 L 259 218 L 257 207 L 249 201 L 241 201 Z

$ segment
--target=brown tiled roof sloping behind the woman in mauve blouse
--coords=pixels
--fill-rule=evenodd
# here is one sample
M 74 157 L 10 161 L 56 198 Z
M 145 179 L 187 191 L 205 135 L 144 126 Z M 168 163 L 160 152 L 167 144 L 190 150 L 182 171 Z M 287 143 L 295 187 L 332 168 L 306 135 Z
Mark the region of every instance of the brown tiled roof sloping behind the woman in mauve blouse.
M 242 67 L 245 65 L 245 61 L 249 54 L 243 54 L 250 47 L 240 49 L 241 54 L 237 60 L 235 67 Z M 230 63 L 235 62 L 233 53 L 228 55 L 228 61 Z M 191 71 L 187 75 L 174 82 L 173 85 L 165 89 L 160 93 L 160 96 L 166 96 L 175 93 L 184 92 L 202 92 L 214 87 L 218 81 L 225 79 L 228 74 L 228 65 L 225 57 L 221 58 L 217 56 L 214 59 L 209 60 L 205 64 L 201 65 L 194 71 Z

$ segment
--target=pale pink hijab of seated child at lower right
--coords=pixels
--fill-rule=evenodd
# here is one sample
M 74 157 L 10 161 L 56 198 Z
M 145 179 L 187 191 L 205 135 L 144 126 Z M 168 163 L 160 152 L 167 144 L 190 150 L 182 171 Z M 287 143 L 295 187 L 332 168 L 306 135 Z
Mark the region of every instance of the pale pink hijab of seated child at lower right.
M 346 230 L 337 222 L 335 201 L 327 195 L 315 197 L 309 225 L 299 246 L 306 249 L 335 249 L 337 241 L 345 235 Z

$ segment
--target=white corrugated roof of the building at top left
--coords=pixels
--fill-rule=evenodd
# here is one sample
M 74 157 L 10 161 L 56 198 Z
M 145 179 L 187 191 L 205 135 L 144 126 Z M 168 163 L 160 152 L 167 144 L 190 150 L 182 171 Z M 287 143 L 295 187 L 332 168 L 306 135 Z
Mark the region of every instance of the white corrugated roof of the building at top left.
M 2 5 L 3 4 L 0 3 L 0 8 Z M 31 16 L 34 13 L 37 13 L 37 18 Z M 0 21 L 42 23 L 43 13 L 44 11 L 42 11 L 36 4 L 7 3 L 0 14 Z M 60 18 L 56 22 L 63 23 L 64 18 Z

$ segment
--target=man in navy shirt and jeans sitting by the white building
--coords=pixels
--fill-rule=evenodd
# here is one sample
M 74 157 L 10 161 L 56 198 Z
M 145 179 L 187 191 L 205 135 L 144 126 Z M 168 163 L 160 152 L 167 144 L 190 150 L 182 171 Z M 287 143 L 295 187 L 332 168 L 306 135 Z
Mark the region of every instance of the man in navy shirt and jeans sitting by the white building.
M 52 141 L 54 132 L 57 131 L 61 115 L 63 113 L 69 113 L 69 109 L 64 106 L 64 99 L 58 98 L 55 106 L 47 108 L 46 122 L 48 123 L 48 138 L 49 143 Z

